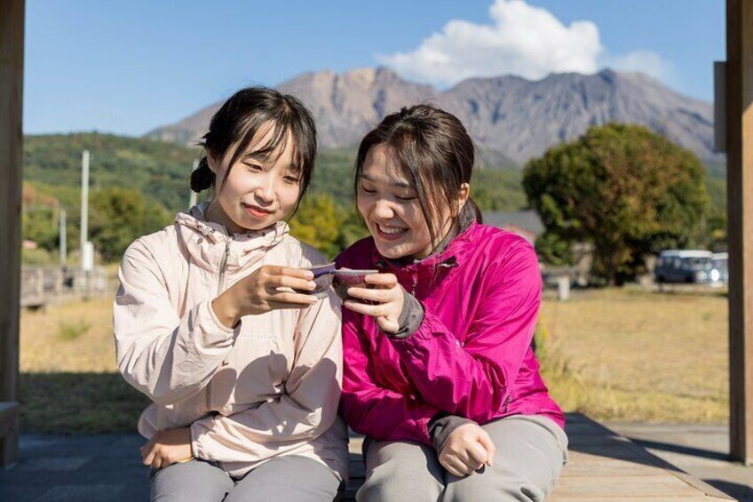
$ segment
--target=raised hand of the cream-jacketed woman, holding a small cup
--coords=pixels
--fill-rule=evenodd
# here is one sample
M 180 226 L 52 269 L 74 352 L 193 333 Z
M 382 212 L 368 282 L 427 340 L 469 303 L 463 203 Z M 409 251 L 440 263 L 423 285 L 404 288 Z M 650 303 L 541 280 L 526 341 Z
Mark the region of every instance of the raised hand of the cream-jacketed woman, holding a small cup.
M 265 265 L 234 283 L 212 301 L 221 323 L 234 327 L 243 315 L 265 314 L 281 308 L 311 307 L 313 296 L 279 288 L 312 291 L 316 288 L 313 272 L 304 268 Z

